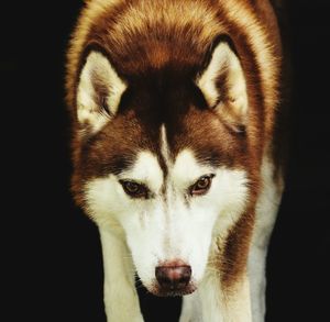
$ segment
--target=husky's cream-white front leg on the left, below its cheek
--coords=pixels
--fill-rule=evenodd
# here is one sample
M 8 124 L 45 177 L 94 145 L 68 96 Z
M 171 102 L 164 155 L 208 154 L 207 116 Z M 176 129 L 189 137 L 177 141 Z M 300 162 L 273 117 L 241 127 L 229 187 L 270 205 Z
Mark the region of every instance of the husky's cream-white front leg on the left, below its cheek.
M 105 268 L 105 307 L 108 322 L 143 322 L 134 287 L 134 267 L 121 235 L 99 229 Z

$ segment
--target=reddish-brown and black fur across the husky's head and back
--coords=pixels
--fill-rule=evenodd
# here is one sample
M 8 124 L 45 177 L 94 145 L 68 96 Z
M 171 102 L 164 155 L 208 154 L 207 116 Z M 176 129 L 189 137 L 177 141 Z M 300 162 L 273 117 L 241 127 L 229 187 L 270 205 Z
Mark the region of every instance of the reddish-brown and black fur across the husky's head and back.
M 246 78 L 249 115 L 243 133 L 228 126 L 232 115 L 215 115 L 193 84 L 219 35 L 232 42 Z M 89 136 L 88 126 L 82 126 L 87 134 L 81 135 L 77 121 L 76 91 L 91 48 L 105 53 L 129 89 L 110 124 Z M 174 155 L 190 146 L 202 162 L 249 173 L 252 185 L 246 213 L 218 258 L 222 282 L 234 285 L 245 271 L 261 162 L 272 145 L 280 52 L 268 1 L 88 1 L 73 35 L 66 78 L 77 203 L 84 207 L 86 180 L 130 166 L 136 149 L 160 154 L 158 130 L 165 123 Z

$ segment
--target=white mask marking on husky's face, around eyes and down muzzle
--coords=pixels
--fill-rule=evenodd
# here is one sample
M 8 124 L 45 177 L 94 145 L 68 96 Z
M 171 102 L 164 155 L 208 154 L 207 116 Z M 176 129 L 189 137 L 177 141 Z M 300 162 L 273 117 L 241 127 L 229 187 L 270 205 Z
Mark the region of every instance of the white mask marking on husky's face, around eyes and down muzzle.
M 209 191 L 190 196 L 188 188 L 208 174 L 215 174 Z M 233 225 L 248 198 L 243 170 L 200 165 L 189 149 L 180 152 L 168 168 L 165 198 L 163 176 L 156 156 L 141 152 L 134 166 L 119 177 L 110 175 L 86 186 L 89 211 L 99 225 L 112 223 L 112 218 L 122 226 L 138 274 L 150 289 L 155 267 L 175 259 L 190 265 L 193 280 L 200 281 L 213 231 Z M 121 178 L 143 182 L 153 197 L 130 198 L 118 181 Z

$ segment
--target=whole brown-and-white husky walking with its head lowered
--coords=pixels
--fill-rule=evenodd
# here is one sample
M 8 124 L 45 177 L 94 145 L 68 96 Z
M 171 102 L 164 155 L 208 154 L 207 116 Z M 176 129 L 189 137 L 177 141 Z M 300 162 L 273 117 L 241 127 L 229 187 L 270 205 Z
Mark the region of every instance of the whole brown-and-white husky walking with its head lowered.
M 135 274 L 180 322 L 264 321 L 284 189 L 283 49 L 267 0 L 90 0 L 66 71 L 72 191 L 97 224 L 108 321 Z

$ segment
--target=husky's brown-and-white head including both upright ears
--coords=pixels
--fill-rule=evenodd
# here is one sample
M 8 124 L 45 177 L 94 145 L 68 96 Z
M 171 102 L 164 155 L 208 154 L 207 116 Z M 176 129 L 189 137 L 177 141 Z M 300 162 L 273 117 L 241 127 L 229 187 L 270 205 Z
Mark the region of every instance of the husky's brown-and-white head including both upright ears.
M 164 70 L 122 80 L 88 55 L 75 180 L 89 215 L 123 232 L 144 286 L 173 296 L 196 289 L 215 230 L 224 238 L 246 206 L 248 101 L 226 43 L 194 77 Z

